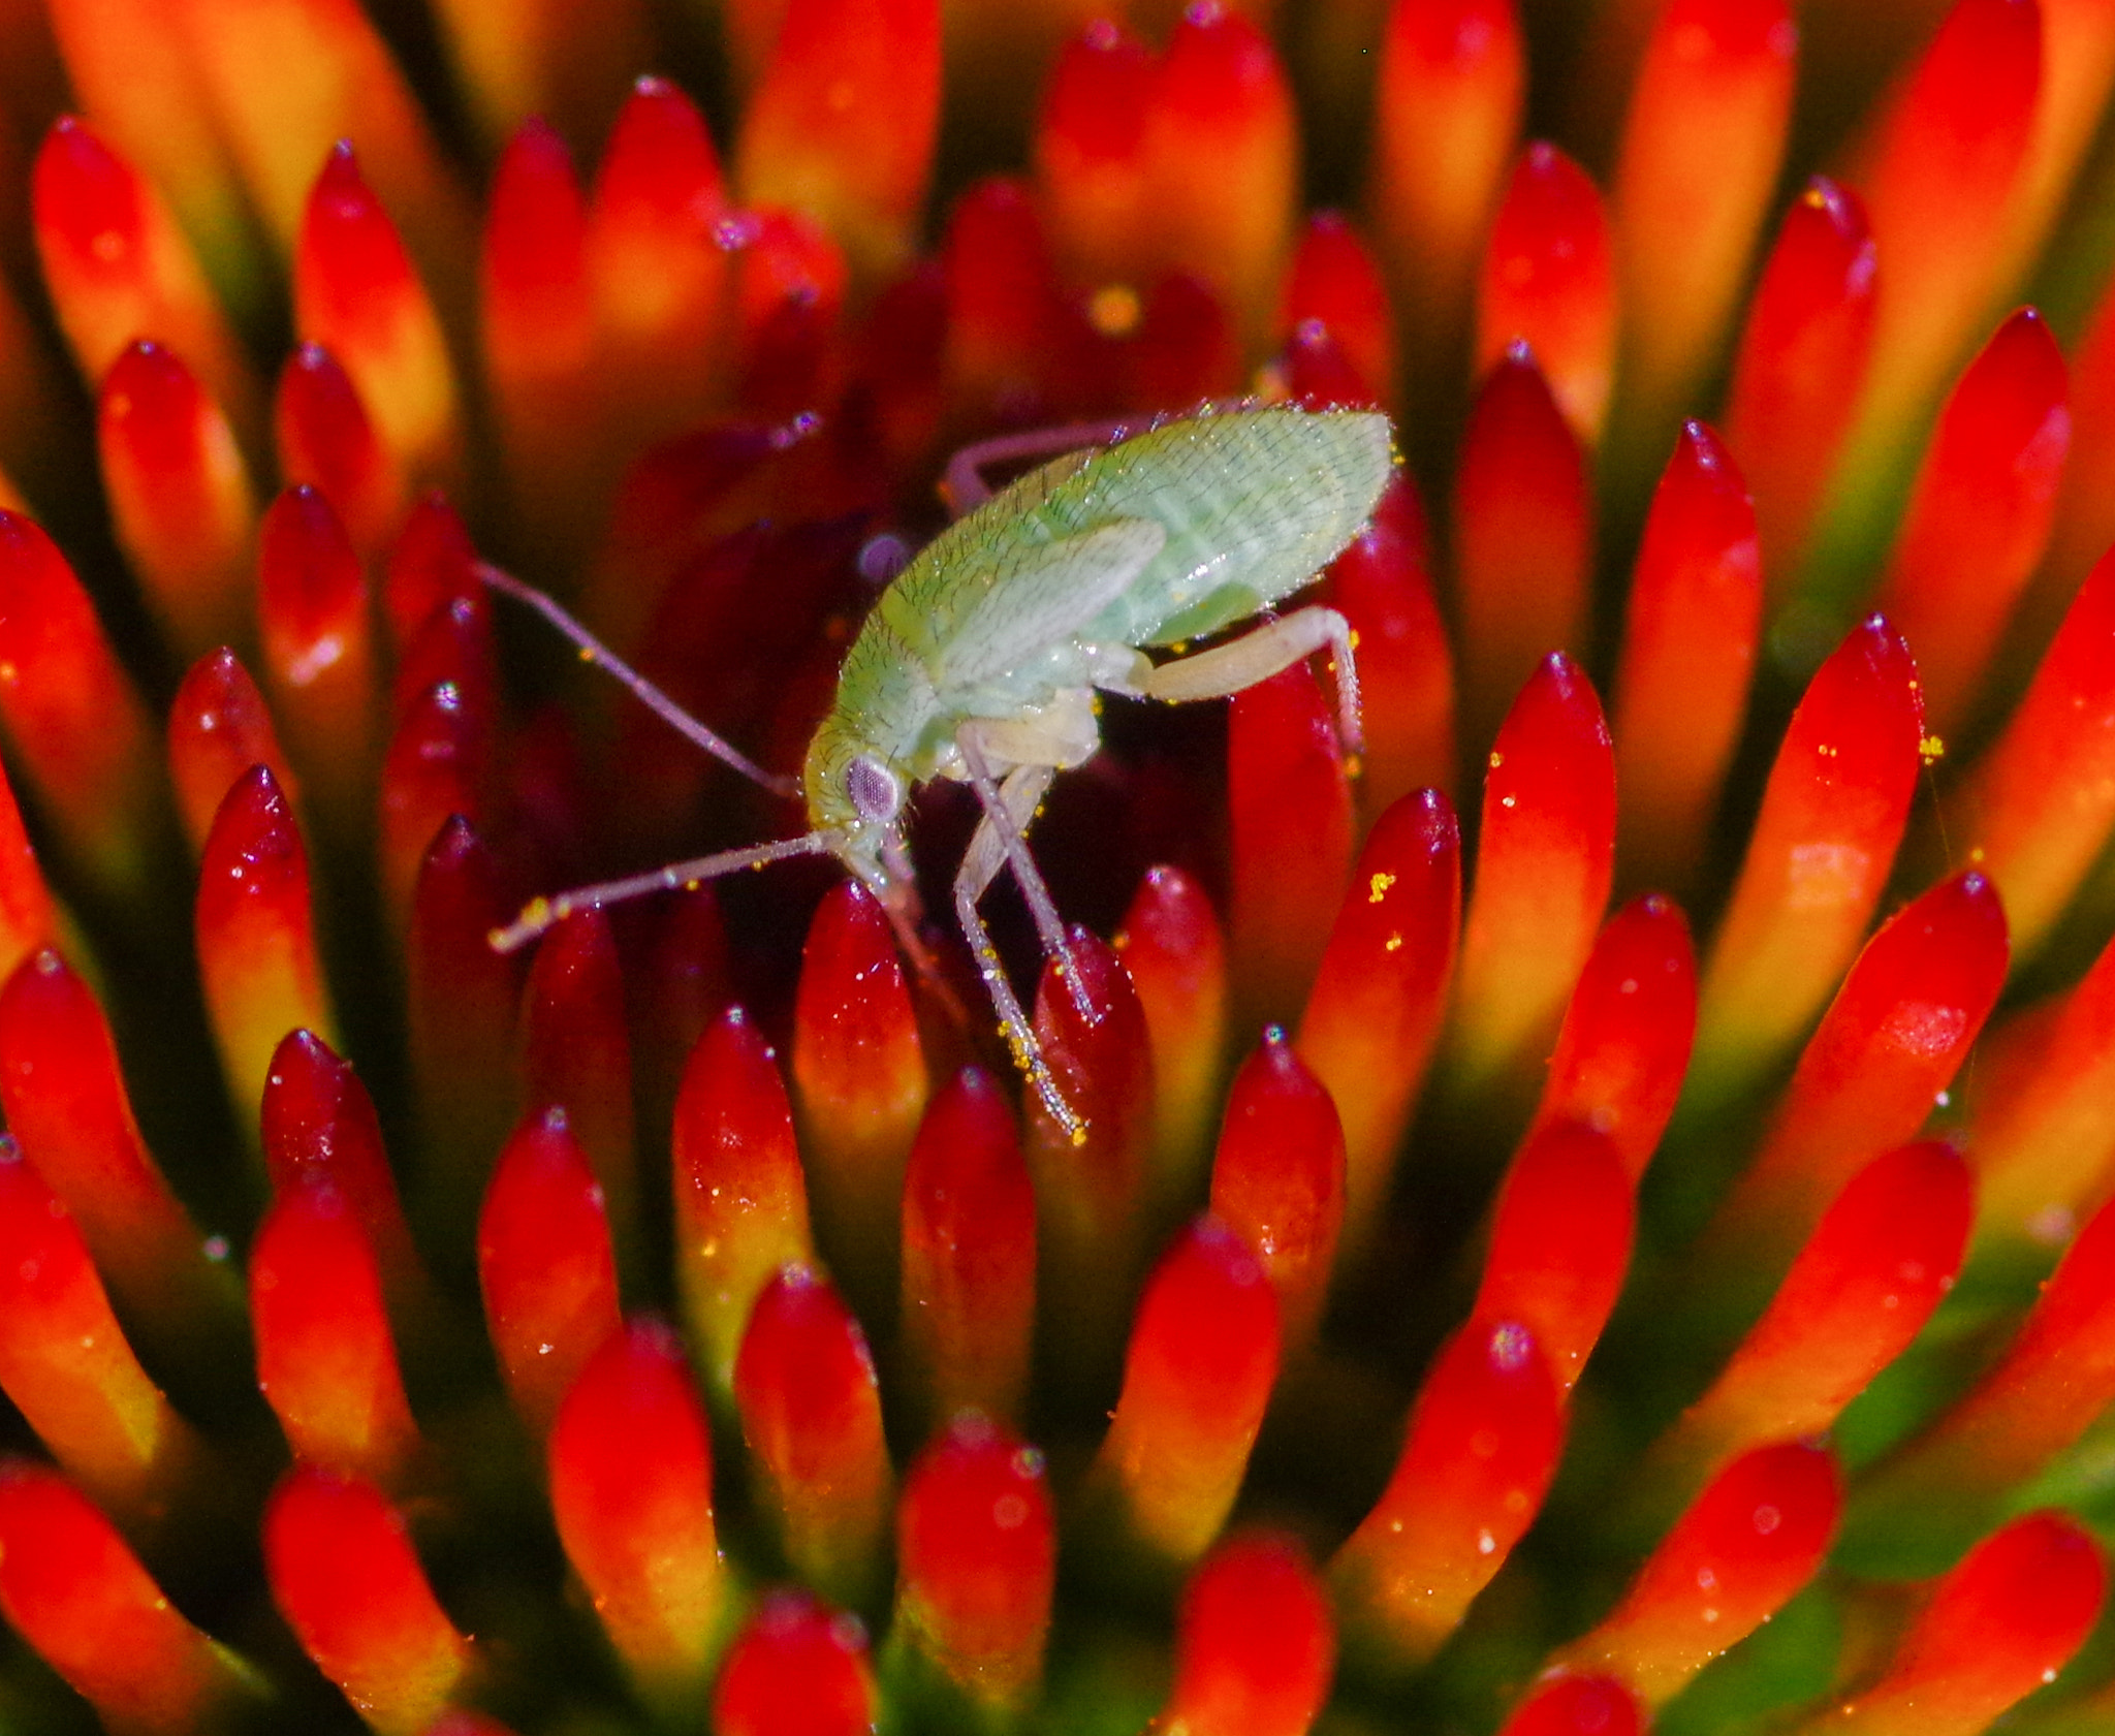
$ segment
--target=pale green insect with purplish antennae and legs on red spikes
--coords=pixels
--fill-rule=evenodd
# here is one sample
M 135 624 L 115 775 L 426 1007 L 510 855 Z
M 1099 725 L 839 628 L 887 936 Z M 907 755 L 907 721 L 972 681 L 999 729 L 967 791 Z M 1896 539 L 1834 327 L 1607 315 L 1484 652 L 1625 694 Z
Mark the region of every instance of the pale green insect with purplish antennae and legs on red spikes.
M 1112 433 L 1119 444 L 1089 444 Z M 859 875 L 905 952 L 931 968 L 918 939 L 905 804 L 918 784 L 956 778 L 983 808 L 954 878 L 962 937 L 1043 1106 L 1070 1138 L 1083 1138 L 979 903 L 998 869 L 1011 867 L 1045 956 L 1091 1021 L 1096 1011 L 1026 833 L 1051 778 L 1100 746 L 1096 691 L 1225 698 L 1326 647 L 1337 660 L 1341 736 L 1347 749 L 1358 746 L 1351 630 L 1335 609 L 1294 609 L 1163 662 L 1146 651 L 1225 632 L 1309 584 L 1373 516 L 1394 469 L 1387 417 L 1373 410 L 1208 408 L 1127 440 L 1121 433 L 1041 431 L 956 457 L 950 493 L 975 510 L 941 531 L 873 605 L 797 787 L 683 713 L 552 598 L 484 569 L 493 588 L 539 609 L 706 753 L 766 789 L 802 797 L 810 827 L 799 837 L 537 899 L 493 935 L 493 945 L 525 945 L 584 905 L 696 886 L 783 856 L 829 854 Z M 1051 450 L 1064 455 L 986 497 L 981 465 Z

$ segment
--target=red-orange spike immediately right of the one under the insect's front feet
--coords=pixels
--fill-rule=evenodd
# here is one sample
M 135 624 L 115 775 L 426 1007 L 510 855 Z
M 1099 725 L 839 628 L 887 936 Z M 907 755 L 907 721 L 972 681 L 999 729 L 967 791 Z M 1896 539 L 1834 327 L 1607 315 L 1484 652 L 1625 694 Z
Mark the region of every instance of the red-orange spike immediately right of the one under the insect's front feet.
M 1227 937 L 1203 886 L 1163 865 L 1140 878 L 1115 949 L 1153 1051 L 1155 1167 L 1165 1193 L 1184 1193 L 1203 1167 L 1218 1114 Z

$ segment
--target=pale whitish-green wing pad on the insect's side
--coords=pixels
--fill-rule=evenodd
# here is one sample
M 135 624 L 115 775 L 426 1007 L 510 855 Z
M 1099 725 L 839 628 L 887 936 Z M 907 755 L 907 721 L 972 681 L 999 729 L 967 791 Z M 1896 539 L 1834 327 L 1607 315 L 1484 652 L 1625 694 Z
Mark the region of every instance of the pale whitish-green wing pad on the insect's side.
M 988 575 L 979 575 L 981 594 L 948 636 L 945 679 L 996 681 L 1070 639 L 1132 588 L 1165 541 L 1167 531 L 1151 518 L 1119 518 L 994 556 Z

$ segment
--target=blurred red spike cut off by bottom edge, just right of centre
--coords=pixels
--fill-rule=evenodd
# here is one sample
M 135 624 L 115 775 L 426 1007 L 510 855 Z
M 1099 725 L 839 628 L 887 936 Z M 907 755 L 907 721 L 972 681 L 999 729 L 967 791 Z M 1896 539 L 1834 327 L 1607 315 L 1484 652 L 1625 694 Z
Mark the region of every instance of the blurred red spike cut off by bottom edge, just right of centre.
M 1307 1552 L 1275 1531 L 1233 1537 L 1182 1588 L 1155 1730 L 1305 1736 L 1335 1670 L 1337 1624 Z

